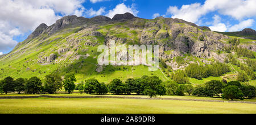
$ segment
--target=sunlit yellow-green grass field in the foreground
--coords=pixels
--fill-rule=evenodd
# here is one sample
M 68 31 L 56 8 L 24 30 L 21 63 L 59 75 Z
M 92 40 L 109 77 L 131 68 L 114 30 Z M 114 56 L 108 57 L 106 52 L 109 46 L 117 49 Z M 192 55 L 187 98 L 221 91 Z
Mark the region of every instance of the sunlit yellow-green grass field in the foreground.
M 169 114 L 169 113 L 256 113 L 246 103 L 193 102 L 140 99 L 0 99 L 0 113 L 82 114 Z

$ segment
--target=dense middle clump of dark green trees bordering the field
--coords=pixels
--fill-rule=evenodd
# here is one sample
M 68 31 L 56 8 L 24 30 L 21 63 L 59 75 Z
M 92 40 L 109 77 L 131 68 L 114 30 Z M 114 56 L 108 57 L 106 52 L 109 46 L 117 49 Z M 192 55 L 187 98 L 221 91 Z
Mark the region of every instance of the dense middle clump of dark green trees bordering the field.
M 80 93 L 88 94 L 143 94 L 150 97 L 156 95 L 164 95 L 166 93 L 164 86 L 161 85 L 162 80 L 156 76 L 143 76 L 142 78 L 129 78 L 123 83 L 119 79 L 112 80 L 109 84 L 105 85 L 104 83 L 98 82 L 96 79 L 89 79 L 84 83 L 78 84 L 76 89 Z

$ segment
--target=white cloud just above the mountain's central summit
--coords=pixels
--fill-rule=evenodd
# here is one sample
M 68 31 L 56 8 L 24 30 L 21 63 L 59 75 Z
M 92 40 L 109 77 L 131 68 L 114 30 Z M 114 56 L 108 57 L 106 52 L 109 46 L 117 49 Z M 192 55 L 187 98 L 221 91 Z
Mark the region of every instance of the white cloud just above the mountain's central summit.
M 139 11 L 136 10 L 134 4 L 131 5 L 131 7 L 130 7 L 130 6 L 126 6 L 125 3 L 121 3 L 117 6 L 115 6 L 115 8 L 113 10 L 109 10 L 109 13 L 106 14 L 106 16 L 109 16 L 109 18 L 113 18 L 115 14 L 125 14 L 126 12 L 130 12 L 134 16 L 137 16 Z

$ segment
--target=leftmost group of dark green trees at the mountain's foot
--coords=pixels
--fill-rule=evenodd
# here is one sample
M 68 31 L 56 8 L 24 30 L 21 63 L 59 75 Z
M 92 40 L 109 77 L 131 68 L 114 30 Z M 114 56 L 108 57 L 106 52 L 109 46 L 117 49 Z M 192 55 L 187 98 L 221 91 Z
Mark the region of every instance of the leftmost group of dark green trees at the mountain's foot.
M 11 91 L 20 93 L 24 91 L 27 94 L 50 93 L 53 94 L 64 87 L 65 91 L 71 93 L 75 90 L 75 75 L 67 75 L 64 81 L 57 74 L 49 74 L 44 78 L 44 82 L 38 77 L 18 78 L 14 80 L 12 77 L 6 77 L 0 81 L 0 93 L 7 94 Z

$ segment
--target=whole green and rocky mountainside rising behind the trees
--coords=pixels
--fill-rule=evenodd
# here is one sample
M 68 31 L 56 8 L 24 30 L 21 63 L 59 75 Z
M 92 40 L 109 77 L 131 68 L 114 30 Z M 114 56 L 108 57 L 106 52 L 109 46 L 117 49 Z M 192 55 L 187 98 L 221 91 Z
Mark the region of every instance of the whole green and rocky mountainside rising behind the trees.
M 106 16 L 90 19 L 64 16 L 52 26 L 40 24 L 13 51 L 0 56 L 0 80 L 7 76 L 43 78 L 50 73 L 61 76 L 75 73 L 78 82 L 97 78 L 100 82 L 108 83 L 113 78 L 126 80 L 143 75 L 156 75 L 166 81 L 171 80 L 169 76 L 172 72 L 184 69 L 191 63 L 205 65 L 215 61 L 229 65 L 231 72 L 203 80 L 189 78 L 189 81 L 201 84 L 212 79 L 234 80 L 237 73 L 243 71 L 237 65 L 225 62 L 225 59 L 232 53 L 237 61 L 248 65 L 246 60 L 249 57 L 237 56 L 233 49 L 231 52 L 225 50 L 232 48 L 230 40 L 240 38 L 240 44 L 236 46 L 246 48 L 256 55 L 256 41 L 251 39 L 256 37 L 247 31 L 240 32 L 242 34 L 214 32 L 208 27 L 196 26 L 181 19 L 141 19 L 129 13 L 115 15 L 113 19 Z M 97 52 L 97 47 L 109 45 L 111 40 L 126 45 L 158 44 L 162 69 L 149 72 L 145 65 L 98 66 L 97 56 L 100 52 Z M 255 62 L 253 58 L 249 60 Z M 255 82 L 249 81 L 249 84 L 255 85 Z

